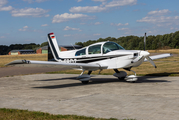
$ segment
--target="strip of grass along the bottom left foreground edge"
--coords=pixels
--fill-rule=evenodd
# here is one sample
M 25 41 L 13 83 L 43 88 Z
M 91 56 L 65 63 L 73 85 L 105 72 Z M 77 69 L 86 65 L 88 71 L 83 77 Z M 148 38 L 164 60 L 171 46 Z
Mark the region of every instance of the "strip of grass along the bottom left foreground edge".
M 28 110 L 0 108 L 0 120 L 117 120 L 116 118 L 104 119 L 77 115 L 53 115 L 43 112 Z M 134 120 L 134 119 L 123 119 Z

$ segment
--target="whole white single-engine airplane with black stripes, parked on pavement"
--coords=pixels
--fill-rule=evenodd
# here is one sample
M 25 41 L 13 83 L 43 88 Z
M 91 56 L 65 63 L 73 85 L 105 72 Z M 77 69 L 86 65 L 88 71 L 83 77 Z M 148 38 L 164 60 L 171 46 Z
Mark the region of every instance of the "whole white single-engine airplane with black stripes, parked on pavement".
M 167 53 L 149 57 L 150 53 L 145 51 L 145 41 L 146 34 L 144 36 L 144 51 L 125 50 L 115 42 L 106 41 L 95 43 L 78 50 L 60 52 L 54 33 L 49 33 L 48 43 L 55 61 L 15 60 L 7 65 L 45 64 L 71 66 L 82 70 L 82 73 L 77 79 L 84 84 L 89 82 L 92 71 L 100 70 L 100 73 L 103 69 L 113 69 L 115 71 L 115 77 L 135 82 L 137 81 L 137 76 L 131 70 L 132 67 L 137 67 L 143 62 L 149 61 L 156 68 L 152 60 L 171 56 L 171 54 Z M 118 68 L 132 71 L 135 75 L 127 76 L 125 71 L 118 71 Z M 84 71 L 88 71 L 88 74 L 83 74 Z

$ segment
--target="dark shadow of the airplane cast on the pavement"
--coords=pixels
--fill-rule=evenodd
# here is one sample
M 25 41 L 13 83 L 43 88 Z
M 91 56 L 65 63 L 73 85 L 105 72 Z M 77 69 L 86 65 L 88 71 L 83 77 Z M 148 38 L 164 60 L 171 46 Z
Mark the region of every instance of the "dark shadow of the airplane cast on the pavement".
M 160 80 L 151 80 L 150 78 L 156 78 L 156 76 L 142 76 L 138 78 L 138 81 L 135 83 L 127 82 L 125 80 L 118 80 L 117 78 L 91 78 L 90 82 L 88 84 L 82 84 L 81 82 L 76 83 L 68 83 L 68 84 L 61 84 L 61 85 L 49 85 L 49 86 L 39 86 L 39 87 L 33 87 L 36 89 L 59 89 L 59 88 L 66 88 L 66 87 L 80 87 L 84 85 L 94 85 L 94 84 L 106 84 L 106 83 L 129 83 L 129 84 L 140 84 L 140 83 L 159 83 L 159 82 L 171 82 L 168 80 L 162 80 L 162 77 Z M 47 80 L 37 80 L 37 81 L 54 81 L 54 80 L 65 80 L 65 79 L 71 79 L 76 80 L 76 77 L 70 77 L 70 78 L 61 78 L 61 79 L 47 79 Z

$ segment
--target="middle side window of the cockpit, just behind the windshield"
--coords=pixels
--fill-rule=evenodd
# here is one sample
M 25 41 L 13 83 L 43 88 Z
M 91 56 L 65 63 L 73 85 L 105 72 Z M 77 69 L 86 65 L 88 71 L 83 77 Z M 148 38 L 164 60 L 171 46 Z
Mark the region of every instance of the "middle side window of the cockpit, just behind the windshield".
M 88 48 L 88 54 L 101 54 L 101 44 L 90 46 Z

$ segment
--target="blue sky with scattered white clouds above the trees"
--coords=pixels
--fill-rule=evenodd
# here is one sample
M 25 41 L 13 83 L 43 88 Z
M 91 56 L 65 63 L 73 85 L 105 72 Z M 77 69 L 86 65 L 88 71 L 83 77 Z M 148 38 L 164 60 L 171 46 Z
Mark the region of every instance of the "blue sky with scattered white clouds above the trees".
M 179 30 L 179 0 L 0 0 L 0 45 L 59 45 Z

